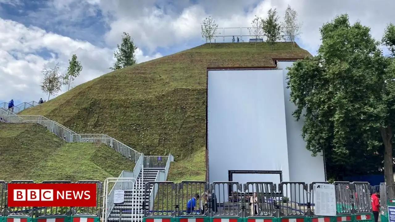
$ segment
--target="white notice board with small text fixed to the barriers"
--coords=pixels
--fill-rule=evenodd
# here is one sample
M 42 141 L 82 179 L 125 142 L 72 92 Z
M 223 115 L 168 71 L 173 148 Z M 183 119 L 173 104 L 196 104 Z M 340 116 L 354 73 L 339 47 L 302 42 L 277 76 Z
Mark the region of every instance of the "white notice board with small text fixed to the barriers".
M 336 216 L 335 184 L 316 183 L 313 192 L 314 214 L 316 216 Z

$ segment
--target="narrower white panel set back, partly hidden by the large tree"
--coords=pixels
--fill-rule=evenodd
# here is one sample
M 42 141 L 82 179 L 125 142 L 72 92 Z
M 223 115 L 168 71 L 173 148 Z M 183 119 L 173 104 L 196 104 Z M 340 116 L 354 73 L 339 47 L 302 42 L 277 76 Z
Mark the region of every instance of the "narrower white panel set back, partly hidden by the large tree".
M 303 118 L 296 122 L 292 116 L 296 106 L 290 101 L 290 89 L 286 88 L 287 67 L 293 62 L 278 62 L 277 66 L 283 71 L 284 103 L 287 126 L 288 158 L 290 167 L 290 181 L 294 182 L 322 182 L 325 181 L 324 158 L 322 154 L 316 157 L 306 149 L 306 142 L 302 138 Z

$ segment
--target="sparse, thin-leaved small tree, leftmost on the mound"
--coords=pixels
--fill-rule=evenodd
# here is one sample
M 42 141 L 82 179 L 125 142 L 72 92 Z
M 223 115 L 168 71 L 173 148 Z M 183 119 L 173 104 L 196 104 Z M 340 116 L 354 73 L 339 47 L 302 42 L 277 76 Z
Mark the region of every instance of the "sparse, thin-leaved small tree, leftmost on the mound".
M 49 100 L 49 96 L 55 96 L 62 89 L 62 75 L 59 73 L 59 63 L 55 65 L 55 68 L 51 68 L 50 70 L 41 70 L 41 73 L 44 75 L 41 90 L 48 94 Z

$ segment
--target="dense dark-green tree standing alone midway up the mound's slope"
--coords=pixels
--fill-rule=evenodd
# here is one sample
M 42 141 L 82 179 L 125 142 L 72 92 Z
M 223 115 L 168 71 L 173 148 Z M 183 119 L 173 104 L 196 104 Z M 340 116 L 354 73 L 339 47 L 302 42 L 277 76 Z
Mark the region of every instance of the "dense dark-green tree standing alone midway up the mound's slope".
M 122 34 L 122 42 L 117 45 L 117 51 L 114 52 L 114 57 L 117 61 L 111 70 L 119 70 L 127 66 L 133 66 L 136 64 L 135 51 L 137 47 L 133 42 L 133 38 L 126 32 Z

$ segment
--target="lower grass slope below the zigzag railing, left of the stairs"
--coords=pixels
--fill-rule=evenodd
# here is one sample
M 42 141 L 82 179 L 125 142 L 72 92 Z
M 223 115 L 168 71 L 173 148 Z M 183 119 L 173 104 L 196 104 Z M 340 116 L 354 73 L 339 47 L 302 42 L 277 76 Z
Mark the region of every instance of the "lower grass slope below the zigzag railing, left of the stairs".
M 0 124 L 0 180 L 100 180 L 134 163 L 103 144 L 66 143 L 38 124 Z

